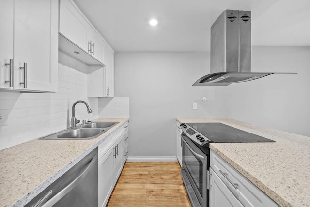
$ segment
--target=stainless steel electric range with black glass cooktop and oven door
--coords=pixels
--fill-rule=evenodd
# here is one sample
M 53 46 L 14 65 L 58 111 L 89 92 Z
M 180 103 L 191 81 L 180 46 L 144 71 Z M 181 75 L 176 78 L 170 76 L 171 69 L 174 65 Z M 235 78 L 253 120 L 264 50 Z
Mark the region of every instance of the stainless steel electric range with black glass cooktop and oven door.
M 214 142 L 274 142 L 222 123 L 182 123 L 182 178 L 193 207 L 209 206 L 209 144 Z

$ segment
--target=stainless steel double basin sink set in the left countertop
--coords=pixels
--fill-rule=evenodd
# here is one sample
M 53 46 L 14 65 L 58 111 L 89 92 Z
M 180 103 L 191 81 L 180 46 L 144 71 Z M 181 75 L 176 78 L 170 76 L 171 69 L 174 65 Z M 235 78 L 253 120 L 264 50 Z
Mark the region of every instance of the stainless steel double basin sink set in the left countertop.
M 63 130 L 61 132 L 53 133 L 39 139 L 95 139 L 118 123 L 119 122 L 87 123 L 76 128 Z

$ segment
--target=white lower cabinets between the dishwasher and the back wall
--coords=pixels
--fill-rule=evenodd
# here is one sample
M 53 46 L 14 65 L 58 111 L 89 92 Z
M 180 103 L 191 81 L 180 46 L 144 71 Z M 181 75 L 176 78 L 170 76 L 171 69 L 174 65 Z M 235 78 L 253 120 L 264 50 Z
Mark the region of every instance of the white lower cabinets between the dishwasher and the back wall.
M 121 127 L 98 146 L 98 207 L 107 205 L 128 156 L 128 122 Z

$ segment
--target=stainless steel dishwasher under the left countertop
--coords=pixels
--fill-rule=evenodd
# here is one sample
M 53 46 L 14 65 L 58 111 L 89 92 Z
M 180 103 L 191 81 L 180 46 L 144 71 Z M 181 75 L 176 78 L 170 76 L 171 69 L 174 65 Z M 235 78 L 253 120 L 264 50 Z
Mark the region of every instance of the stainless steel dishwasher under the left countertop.
M 25 207 L 98 207 L 98 148 Z

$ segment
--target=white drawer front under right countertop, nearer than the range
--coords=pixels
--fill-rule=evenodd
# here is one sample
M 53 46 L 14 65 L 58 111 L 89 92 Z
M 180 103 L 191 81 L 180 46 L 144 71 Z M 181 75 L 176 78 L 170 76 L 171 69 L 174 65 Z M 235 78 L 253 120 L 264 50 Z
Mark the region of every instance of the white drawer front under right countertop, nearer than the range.
M 210 150 L 210 167 L 245 207 L 278 207 L 264 192 Z

